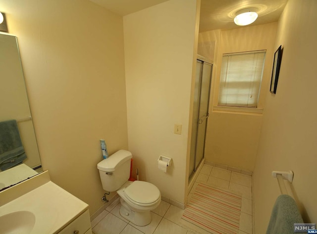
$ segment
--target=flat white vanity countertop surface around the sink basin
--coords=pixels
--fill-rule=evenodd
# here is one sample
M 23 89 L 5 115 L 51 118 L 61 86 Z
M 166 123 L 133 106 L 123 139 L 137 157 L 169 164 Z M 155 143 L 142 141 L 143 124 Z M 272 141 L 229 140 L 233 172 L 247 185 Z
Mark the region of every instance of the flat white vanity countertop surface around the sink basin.
M 57 233 L 88 209 L 88 204 L 49 181 L 0 206 L 0 216 L 15 211 L 35 215 L 31 233 Z

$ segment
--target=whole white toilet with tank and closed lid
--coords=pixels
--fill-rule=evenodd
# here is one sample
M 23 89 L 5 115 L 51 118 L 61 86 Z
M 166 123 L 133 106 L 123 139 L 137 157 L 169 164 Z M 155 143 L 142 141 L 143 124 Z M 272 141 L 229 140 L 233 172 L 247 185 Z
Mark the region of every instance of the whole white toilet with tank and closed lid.
M 119 150 L 97 164 L 104 190 L 120 196 L 120 215 L 137 226 L 151 223 L 150 211 L 160 203 L 159 189 L 145 181 L 128 181 L 132 154 Z

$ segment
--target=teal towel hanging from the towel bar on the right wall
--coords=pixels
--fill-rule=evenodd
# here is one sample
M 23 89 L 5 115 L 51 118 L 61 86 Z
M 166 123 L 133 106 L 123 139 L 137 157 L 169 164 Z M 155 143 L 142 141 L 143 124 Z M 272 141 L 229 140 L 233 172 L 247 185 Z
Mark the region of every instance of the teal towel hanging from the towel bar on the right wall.
M 304 223 L 295 200 L 289 195 L 279 195 L 266 234 L 294 234 L 294 223 Z

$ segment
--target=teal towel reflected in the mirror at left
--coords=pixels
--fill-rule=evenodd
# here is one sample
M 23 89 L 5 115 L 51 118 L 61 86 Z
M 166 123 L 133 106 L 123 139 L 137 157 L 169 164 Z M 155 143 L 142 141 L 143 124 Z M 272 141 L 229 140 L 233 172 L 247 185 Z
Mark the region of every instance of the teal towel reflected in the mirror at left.
M 0 122 L 0 169 L 20 164 L 26 158 L 15 119 Z

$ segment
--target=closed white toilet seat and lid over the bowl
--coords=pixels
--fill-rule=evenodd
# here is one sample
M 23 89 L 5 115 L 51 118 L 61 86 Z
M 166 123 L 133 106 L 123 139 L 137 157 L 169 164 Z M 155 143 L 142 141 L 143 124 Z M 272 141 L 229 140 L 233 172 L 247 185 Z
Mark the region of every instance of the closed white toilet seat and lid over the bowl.
M 123 192 L 130 202 L 140 206 L 152 206 L 160 199 L 159 189 L 145 181 L 134 181 Z

